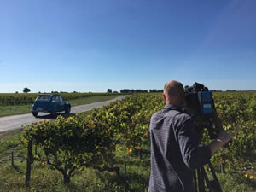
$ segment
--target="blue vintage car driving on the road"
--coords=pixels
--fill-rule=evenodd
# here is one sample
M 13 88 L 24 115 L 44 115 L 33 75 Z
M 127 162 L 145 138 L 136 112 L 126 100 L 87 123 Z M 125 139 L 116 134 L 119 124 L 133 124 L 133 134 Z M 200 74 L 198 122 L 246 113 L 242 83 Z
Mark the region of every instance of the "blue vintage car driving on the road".
M 68 114 L 70 113 L 70 109 L 70 103 L 64 102 L 60 95 L 40 94 L 30 111 L 34 117 L 37 117 L 38 113 L 51 113 L 52 116 L 55 116 L 57 112 L 65 111 Z

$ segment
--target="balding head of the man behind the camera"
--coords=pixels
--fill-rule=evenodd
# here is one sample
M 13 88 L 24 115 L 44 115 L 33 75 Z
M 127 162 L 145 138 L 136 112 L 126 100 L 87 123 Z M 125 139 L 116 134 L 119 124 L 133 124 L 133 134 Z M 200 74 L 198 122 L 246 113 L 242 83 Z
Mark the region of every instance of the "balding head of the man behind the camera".
M 166 104 L 180 107 L 184 100 L 183 84 L 174 80 L 166 83 L 163 96 Z

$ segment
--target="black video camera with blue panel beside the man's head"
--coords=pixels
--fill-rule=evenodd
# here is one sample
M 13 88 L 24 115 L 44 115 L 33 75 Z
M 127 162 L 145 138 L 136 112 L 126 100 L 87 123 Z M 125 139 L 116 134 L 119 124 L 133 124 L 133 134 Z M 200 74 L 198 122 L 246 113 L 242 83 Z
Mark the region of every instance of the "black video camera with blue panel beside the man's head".
M 183 109 L 195 120 L 195 125 L 199 131 L 207 128 L 211 139 L 215 139 L 223 129 L 214 106 L 212 92 L 203 84 L 195 82 L 193 86 L 185 87 Z

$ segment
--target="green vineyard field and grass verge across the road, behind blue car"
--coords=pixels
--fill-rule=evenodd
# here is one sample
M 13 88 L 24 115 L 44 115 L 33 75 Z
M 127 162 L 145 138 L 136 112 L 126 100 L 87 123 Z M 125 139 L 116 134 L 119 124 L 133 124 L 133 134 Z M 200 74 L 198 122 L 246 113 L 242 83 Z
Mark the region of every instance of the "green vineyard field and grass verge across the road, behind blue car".
M 0 94 L 0 117 L 29 113 L 32 103 L 38 96 L 38 93 L 29 94 Z M 71 106 L 89 104 L 92 102 L 104 102 L 113 99 L 119 94 L 108 93 L 65 93 L 61 94 L 66 102 Z M 11 102 L 13 101 L 13 102 Z M 5 104 L 3 104 L 5 103 Z M 6 104 L 8 103 L 8 104 Z

